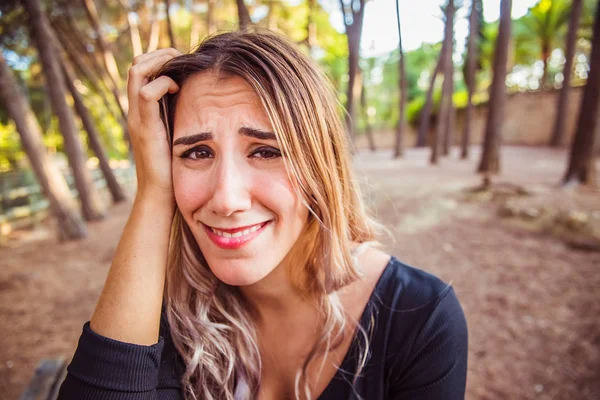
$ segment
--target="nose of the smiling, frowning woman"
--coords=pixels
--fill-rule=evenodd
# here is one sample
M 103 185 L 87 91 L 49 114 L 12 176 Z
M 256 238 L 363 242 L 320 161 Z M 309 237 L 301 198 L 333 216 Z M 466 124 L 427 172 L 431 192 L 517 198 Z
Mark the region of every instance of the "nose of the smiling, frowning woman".
M 228 217 L 252 206 L 248 191 L 249 178 L 235 160 L 221 159 L 215 166 L 213 193 L 207 203 L 209 211 Z

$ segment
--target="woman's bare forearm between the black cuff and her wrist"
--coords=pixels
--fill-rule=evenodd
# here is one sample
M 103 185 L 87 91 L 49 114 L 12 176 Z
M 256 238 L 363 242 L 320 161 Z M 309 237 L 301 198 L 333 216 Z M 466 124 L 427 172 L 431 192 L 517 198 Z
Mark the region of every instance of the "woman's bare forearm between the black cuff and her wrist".
M 157 342 L 174 210 L 168 196 L 138 193 L 90 322 L 95 332 L 127 343 Z

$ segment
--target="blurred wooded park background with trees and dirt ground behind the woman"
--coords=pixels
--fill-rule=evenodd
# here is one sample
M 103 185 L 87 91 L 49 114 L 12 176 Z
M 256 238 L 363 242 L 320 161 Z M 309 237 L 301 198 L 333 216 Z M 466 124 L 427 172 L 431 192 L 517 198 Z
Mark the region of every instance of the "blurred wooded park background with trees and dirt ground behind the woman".
M 132 58 L 259 27 L 336 89 L 388 251 L 452 282 L 467 398 L 599 399 L 598 3 L 2 0 L 0 398 L 51 398 L 102 289 Z

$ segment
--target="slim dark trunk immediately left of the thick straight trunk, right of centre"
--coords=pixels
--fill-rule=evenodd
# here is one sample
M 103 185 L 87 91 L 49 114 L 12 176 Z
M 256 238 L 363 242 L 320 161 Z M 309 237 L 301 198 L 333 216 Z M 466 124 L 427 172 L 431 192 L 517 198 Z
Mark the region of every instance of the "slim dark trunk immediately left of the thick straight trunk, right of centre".
M 469 146 L 471 144 L 471 121 L 473 120 L 473 93 L 477 87 L 477 35 L 479 32 L 479 3 L 481 0 L 473 0 L 471 15 L 469 16 L 469 37 L 467 38 L 467 115 L 465 128 L 461 141 L 460 158 L 465 160 L 469 157 Z

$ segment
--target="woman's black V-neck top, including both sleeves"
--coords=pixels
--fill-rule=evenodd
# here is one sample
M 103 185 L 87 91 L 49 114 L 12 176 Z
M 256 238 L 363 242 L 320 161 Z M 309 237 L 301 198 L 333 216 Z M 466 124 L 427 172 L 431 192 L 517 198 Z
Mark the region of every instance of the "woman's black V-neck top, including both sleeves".
M 467 324 L 451 286 L 392 257 L 360 320 L 370 354 L 360 377 L 356 335 L 341 367 L 318 400 L 463 399 Z M 83 327 L 59 400 L 183 400 L 183 361 L 162 318 L 152 346 L 123 343 Z M 360 397 L 359 397 L 360 396 Z

